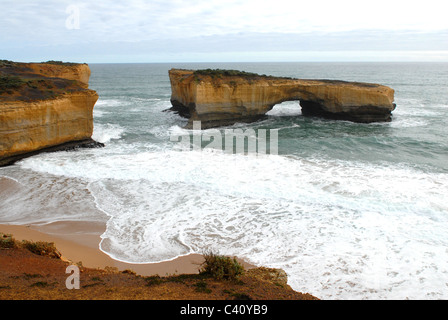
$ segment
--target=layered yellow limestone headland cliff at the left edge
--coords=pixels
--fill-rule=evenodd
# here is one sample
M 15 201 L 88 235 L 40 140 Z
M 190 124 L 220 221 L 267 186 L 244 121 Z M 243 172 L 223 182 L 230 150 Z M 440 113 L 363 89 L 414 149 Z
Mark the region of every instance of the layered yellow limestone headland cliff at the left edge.
M 90 68 L 72 63 L 0 62 L 0 166 L 26 156 L 94 147 Z

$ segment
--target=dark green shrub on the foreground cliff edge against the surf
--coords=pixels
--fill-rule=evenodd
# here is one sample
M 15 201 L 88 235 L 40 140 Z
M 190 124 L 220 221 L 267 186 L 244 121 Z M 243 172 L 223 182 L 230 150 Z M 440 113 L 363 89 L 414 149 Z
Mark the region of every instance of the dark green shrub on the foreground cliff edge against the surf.
M 243 273 L 244 267 L 236 260 L 212 252 L 204 253 L 204 262 L 199 270 L 200 274 L 212 276 L 218 280 L 237 280 Z

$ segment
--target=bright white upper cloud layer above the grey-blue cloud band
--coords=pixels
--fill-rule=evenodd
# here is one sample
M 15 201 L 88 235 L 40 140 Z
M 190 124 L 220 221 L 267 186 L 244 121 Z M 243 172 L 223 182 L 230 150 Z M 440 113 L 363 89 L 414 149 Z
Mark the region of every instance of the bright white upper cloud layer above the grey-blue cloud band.
M 2 1 L 1 27 L 10 36 L 58 41 L 65 35 L 65 8 L 80 8 L 79 34 L 92 40 L 146 40 L 159 37 L 237 32 L 448 29 L 444 2 L 421 1 Z M 3 33 L 2 32 L 2 33 Z M 3 35 L 5 36 L 5 35 Z

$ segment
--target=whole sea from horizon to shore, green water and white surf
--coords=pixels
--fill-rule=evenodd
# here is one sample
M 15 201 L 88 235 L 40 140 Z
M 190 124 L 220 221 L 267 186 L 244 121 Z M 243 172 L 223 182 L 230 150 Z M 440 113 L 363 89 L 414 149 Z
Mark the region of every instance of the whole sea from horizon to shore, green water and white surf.
M 231 68 L 395 89 L 389 123 L 302 117 L 298 102 L 226 129 L 277 129 L 278 155 L 181 151 L 168 70 Z M 105 148 L 1 168 L 0 223 L 101 221 L 132 263 L 212 250 L 284 269 L 323 299 L 448 299 L 448 64 L 94 64 Z M 207 132 L 207 130 L 205 131 Z

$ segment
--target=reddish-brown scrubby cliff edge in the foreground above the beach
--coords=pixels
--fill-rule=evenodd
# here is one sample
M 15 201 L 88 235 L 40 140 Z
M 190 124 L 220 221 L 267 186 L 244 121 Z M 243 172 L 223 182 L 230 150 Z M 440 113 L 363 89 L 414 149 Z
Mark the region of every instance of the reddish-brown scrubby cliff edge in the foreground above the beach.
M 67 274 L 66 268 L 75 262 L 53 242 L 18 241 L 2 232 L 0 261 L 1 300 L 319 300 L 294 291 L 283 270 L 264 267 L 244 270 L 233 279 L 210 273 L 143 276 L 79 262 L 79 287 L 69 290 L 67 280 L 74 273 Z

